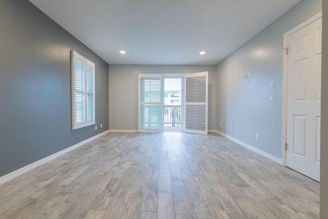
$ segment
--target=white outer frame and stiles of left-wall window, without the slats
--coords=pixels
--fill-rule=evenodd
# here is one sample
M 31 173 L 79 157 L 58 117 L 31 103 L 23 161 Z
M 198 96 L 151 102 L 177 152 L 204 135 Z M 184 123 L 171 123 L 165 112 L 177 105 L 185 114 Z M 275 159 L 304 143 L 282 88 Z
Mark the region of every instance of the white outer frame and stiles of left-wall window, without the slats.
M 76 123 L 76 89 L 75 89 L 75 83 L 76 83 L 76 71 L 75 71 L 75 61 L 78 58 L 81 61 L 83 61 L 85 65 L 85 69 L 87 69 L 87 65 L 91 66 L 93 68 L 93 119 L 88 121 L 88 95 L 87 95 L 87 70 L 85 70 L 84 74 L 84 83 L 85 83 L 85 116 L 84 116 L 84 122 Z M 83 128 L 86 126 L 94 125 L 95 124 L 95 114 L 96 114 L 96 109 L 95 109 L 95 64 L 91 62 L 89 59 L 85 58 L 84 56 L 78 54 L 75 51 L 71 51 L 71 64 L 72 64 L 72 71 L 71 71 L 71 76 L 72 76 L 72 130 L 74 129 L 79 129 Z

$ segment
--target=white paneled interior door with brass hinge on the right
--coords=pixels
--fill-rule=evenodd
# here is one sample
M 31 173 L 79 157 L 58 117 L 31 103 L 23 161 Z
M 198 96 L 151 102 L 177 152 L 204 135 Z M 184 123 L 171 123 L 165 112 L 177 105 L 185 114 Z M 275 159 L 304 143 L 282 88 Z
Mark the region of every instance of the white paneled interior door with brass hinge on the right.
M 321 18 L 288 36 L 286 165 L 320 181 Z

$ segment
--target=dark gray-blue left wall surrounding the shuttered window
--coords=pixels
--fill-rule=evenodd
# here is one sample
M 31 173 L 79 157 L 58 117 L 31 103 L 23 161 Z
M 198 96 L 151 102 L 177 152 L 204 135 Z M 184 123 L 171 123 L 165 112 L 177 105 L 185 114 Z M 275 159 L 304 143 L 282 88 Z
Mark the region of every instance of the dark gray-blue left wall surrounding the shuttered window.
M 98 130 L 71 130 L 70 50 L 95 63 Z M 108 68 L 27 0 L 0 1 L 0 176 L 108 130 Z

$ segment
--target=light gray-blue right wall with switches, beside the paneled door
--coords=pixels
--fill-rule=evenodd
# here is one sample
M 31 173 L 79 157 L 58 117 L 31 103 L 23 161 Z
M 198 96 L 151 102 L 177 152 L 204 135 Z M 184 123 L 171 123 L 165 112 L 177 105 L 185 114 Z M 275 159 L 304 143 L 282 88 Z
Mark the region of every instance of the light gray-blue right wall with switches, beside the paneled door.
M 282 157 L 283 34 L 320 12 L 321 4 L 301 1 L 217 65 L 218 130 Z

